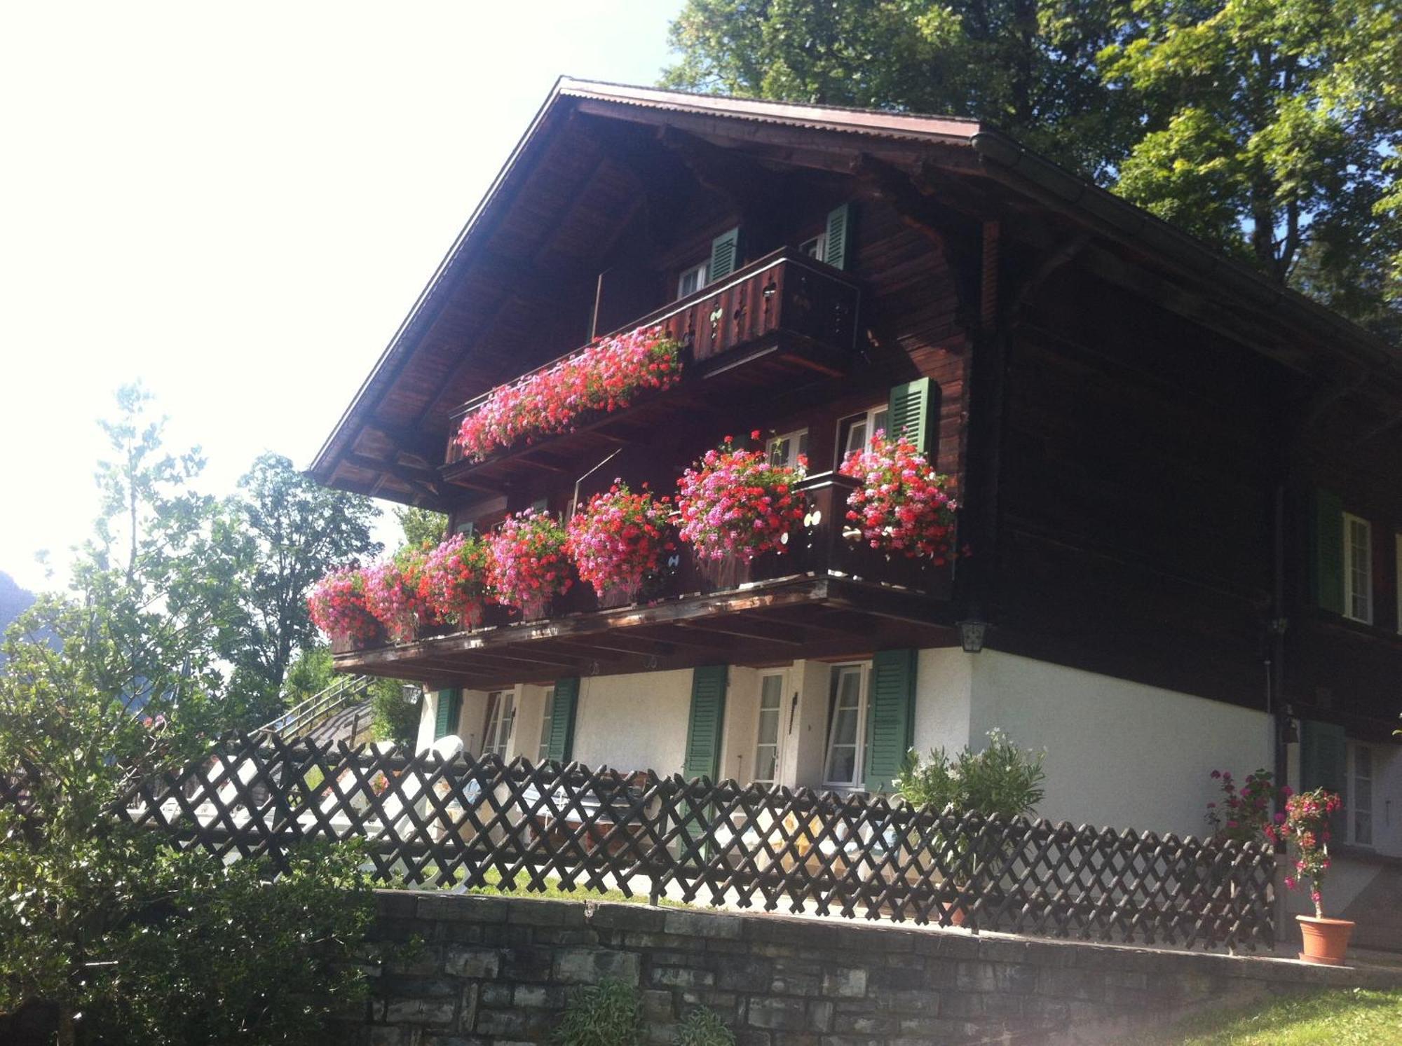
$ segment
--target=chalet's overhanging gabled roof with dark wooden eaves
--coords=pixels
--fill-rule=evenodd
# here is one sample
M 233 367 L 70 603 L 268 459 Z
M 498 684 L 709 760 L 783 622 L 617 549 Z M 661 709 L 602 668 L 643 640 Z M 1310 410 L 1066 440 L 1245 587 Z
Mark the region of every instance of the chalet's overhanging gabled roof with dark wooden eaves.
M 586 201 L 615 210 L 637 193 L 610 167 L 606 149 L 589 149 L 585 122 L 644 122 L 662 133 L 677 129 L 697 140 L 763 151 L 768 163 L 829 164 L 851 171 L 864 158 L 918 175 L 952 172 L 991 182 L 997 192 L 1053 212 L 1157 275 L 1166 293 L 1211 299 L 1214 314 L 1232 313 L 1272 328 L 1272 355 L 1308 373 L 1321 352 L 1342 360 L 1347 383 L 1381 379 L 1402 391 L 1402 351 L 1297 292 L 1182 233 L 1148 212 L 1029 151 L 974 119 L 908 112 L 805 105 L 667 91 L 562 77 L 513 149 L 433 278 L 360 386 L 311 464 L 321 482 L 430 503 L 422 481 L 442 460 L 447 411 L 461 391 L 464 352 L 481 358 L 482 387 L 515 372 L 509 345 L 484 346 L 503 313 L 512 282 L 548 271 L 606 233 Z M 543 163 L 552 164 L 545 171 Z M 617 167 L 617 164 L 614 164 Z M 551 210 L 545 199 L 566 199 Z M 572 224 L 571 224 L 572 223 Z M 566 227 L 569 226 L 569 227 Z M 1164 279 L 1171 283 L 1164 283 Z M 503 304 L 505 300 L 505 304 Z M 527 304 L 517 311 L 531 314 Z M 538 310 L 537 310 L 538 311 Z M 527 322 L 524 318 L 522 322 Z M 1305 344 L 1308 342 L 1308 344 Z M 496 356 L 491 355 L 495 348 Z M 495 369 L 494 369 L 495 366 Z M 494 380 L 495 376 L 495 380 Z M 481 388 L 474 387 L 474 391 Z M 458 397 L 460 402 L 465 397 Z M 391 464 L 376 467 L 380 459 Z M 423 466 L 414 464 L 423 461 Z

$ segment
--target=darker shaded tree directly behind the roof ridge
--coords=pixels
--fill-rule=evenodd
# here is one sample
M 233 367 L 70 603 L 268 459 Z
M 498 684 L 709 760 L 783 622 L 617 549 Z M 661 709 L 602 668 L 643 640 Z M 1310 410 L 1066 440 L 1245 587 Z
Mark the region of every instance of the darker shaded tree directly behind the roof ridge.
M 663 83 L 991 121 L 1085 175 L 1134 140 L 1096 55 L 1123 0 L 688 0 Z

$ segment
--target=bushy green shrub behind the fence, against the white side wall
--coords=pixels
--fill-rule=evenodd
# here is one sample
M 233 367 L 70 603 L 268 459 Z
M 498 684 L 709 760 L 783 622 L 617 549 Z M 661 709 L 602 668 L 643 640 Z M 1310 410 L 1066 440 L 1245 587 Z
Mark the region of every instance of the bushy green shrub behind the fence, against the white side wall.
M 966 746 L 951 756 L 935 749 L 924 761 L 911 752 L 896 777 L 896 791 L 917 806 L 1018 817 L 1042 802 L 1044 757 L 1044 752 L 1019 749 L 993 729 L 981 752 Z

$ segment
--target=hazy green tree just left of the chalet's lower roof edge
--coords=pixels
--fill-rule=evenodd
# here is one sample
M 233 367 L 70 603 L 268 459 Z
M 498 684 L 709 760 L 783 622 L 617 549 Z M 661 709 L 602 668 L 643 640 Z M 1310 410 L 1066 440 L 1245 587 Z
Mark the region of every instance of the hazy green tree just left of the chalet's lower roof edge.
M 379 509 L 308 480 L 280 454 L 262 454 L 226 513 L 237 573 L 220 653 L 251 712 L 272 714 L 293 656 L 317 642 L 307 592 L 329 569 L 380 551 L 370 537 Z

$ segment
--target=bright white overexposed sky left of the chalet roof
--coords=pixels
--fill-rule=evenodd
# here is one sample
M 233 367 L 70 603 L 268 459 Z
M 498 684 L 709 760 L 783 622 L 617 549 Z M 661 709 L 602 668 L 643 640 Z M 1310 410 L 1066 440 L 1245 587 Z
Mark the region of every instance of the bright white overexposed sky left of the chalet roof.
M 209 492 L 308 466 L 555 79 L 653 83 L 679 7 L 0 4 L 0 571 L 63 583 L 125 383 Z

